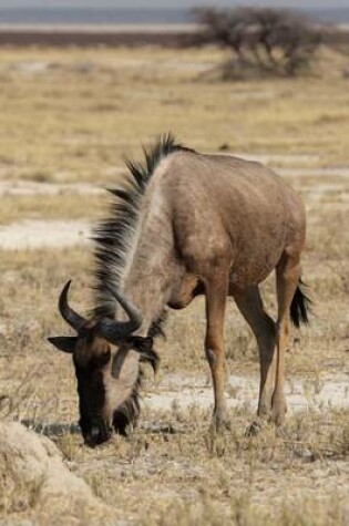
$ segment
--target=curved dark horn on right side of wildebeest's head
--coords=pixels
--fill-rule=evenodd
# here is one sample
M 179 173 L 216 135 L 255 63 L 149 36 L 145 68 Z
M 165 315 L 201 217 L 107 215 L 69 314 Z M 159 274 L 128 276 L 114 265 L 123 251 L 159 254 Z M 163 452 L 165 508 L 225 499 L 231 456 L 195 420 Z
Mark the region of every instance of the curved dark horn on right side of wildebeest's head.
M 142 314 L 138 309 L 120 292 L 112 290 L 111 288 L 109 288 L 109 290 L 129 316 L 129 321 L 114 321 L 104 318 L 99 323 L 99 332 L 109 342 L 116 343 L 117 340 L 132 334 L 132 332 L 136 331 L 141 327 Z

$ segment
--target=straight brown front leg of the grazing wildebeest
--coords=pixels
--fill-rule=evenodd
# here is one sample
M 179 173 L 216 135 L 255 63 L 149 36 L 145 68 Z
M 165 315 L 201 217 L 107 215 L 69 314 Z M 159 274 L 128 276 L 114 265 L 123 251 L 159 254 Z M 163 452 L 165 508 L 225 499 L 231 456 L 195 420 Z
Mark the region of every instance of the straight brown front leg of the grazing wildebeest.
M 206 339 L 205 352 L 209 363 L 215 409 L 213 426 L 222 429 L 227 423 L 224 399 L 224 313 L 227 297 L 227 280 L 206 285 Z

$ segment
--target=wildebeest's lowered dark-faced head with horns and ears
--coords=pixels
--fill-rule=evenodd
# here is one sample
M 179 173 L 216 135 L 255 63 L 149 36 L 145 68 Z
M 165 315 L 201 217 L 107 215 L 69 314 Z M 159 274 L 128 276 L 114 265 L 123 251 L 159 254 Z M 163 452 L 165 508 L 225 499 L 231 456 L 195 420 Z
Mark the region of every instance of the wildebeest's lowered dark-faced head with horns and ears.
M 133 336 L 141 327 L 140 311 L 123 296 L 112 291 L 129 320 L 111 318 L 86 320 L 68 303 L 71 281 L 64 286 L 59 310 L 78 332 L 75 337 L 49 338 L 59 350 L 71 353 L 78 380 L 80 427 L 84 442 L 95 446 L 110 439 L 114 430 L 125 434 L 140 413 L 140 363 L 156 370 L 158 357 L 153 339 Z

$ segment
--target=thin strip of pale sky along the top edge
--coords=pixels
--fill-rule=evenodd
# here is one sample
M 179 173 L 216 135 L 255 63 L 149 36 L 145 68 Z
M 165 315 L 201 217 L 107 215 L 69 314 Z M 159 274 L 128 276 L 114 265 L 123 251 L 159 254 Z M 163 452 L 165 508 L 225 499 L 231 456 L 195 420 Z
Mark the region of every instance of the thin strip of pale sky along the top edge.
M 273 6 L 306 9 L 348 8 L 348 0 L 0 0 L 0 8 L 187 8 L 195 6 Z

